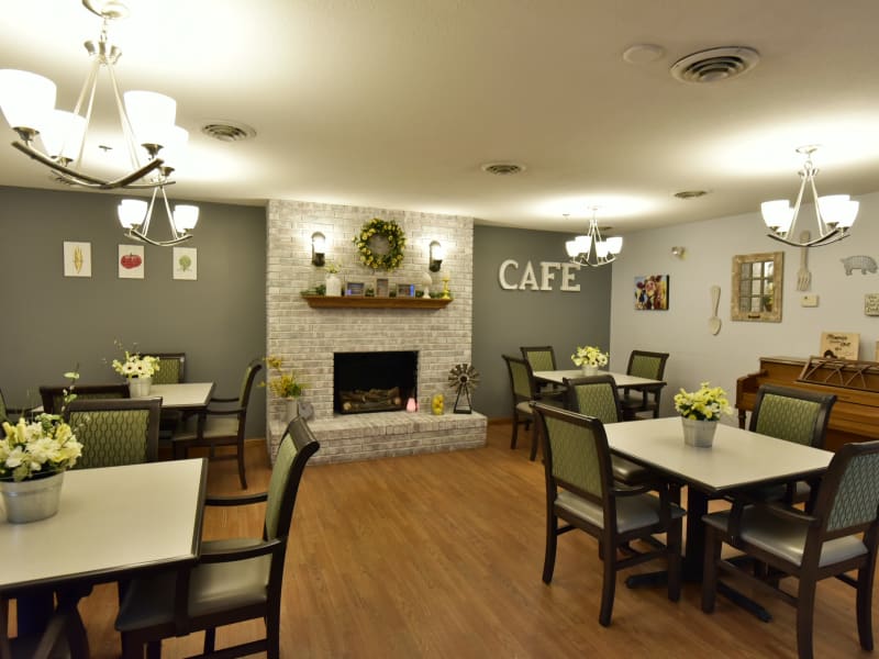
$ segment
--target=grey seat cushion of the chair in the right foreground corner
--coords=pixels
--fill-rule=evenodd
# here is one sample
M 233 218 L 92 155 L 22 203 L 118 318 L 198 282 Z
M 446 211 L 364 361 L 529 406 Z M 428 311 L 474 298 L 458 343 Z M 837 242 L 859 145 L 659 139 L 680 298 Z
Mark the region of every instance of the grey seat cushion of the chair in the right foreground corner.
M 730 523 L 730 511 L 711 513 L 702 520 L 725 533 Z M 803 559 L 808 530 L 804 521 L 782 518 L 759 506 L 747 506 L 742 512 L 743 540 L 797 566 Z M 819 566 L 830 566 L 864 554 L 867 554 L 867 547 L 859 537 L 835 538 L 824 543 Z

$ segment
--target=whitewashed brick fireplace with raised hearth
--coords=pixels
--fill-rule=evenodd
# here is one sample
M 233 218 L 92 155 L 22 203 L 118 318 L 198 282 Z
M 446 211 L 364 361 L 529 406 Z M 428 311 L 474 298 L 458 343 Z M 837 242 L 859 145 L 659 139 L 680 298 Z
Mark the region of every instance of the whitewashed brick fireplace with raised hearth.
M 376 272 L 359 263 L 353 238 L 372 217 L 394 220 L 405 233 L 403 265 Z M 302 398 L 314 407 L 311 428 L 321 440 L 313 461 L 343 461 L 482 446 L 486 417 L 453 414 L 449 369 L 470 362 L 472 331 L 472 219 L 298 201 L 269 201 L 267 208 L 267 346 L 305 383 Z M 311 235 L 326 237 L 326 259 L 342 266 L 347 281 L 375 287 L 377 277 L 431 290 L 449 278 L 453 302 L 443 309 L 312 309 L 301 292 L 323 282 L 311 265 Z M 439 272 L 427 270 L 431 241 L 446 256 Z M 421 412 L 334 415 L 333 354 L 381 350 L 418 353 Z M 446 395 L 446 414 L 430 414 L 431 396 Z M 283 429 L 283 405 L 268 396 L 267 440 L 274 457 Z

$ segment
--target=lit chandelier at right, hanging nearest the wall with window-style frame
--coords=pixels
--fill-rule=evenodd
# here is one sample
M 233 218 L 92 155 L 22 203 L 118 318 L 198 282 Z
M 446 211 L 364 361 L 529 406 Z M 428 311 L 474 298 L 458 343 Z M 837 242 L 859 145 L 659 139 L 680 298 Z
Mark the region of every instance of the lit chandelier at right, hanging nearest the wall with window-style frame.
M 797 202 L 790 206 L 787 199 L 765 201 L 760 204 L 763 221 L 769 228 L 767 234 L 774 241 L 779 241 L 793 247 L 822 247 L 832 243 L 837 243 L 847 238 L 850 234 L 848 230 L 855 223 L 858 214 L 858 202 L 849 199 L 848 194 L 828 194 L 819 197 L 815 189 L 815 176 L 817 168 L 812 163 L 812 154 L 817 150 L 817 146 L 801 146 L 797 149 L 798 154 L 805 156 L 800 174 L 800 191 L 797 194 Z M 797 227 L 797 216 L 800 214 L 800 205 L 803 200 L 803 192 L 806 187 L 812 193 L 812 202 L 817 220 L 819 235 L 814 239 L 809 239 L 808 232 L 803 232 L 802 242 L 794 238 Z

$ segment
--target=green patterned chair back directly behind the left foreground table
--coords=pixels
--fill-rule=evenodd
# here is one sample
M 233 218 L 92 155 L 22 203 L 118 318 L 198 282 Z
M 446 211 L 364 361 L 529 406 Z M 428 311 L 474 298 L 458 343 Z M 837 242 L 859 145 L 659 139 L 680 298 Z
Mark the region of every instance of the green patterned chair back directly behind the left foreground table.
M 155 461 L 160 409 L 160 398 L 71 402 L 65 418 L 82 445 L 82 456 L 75 468 Z

